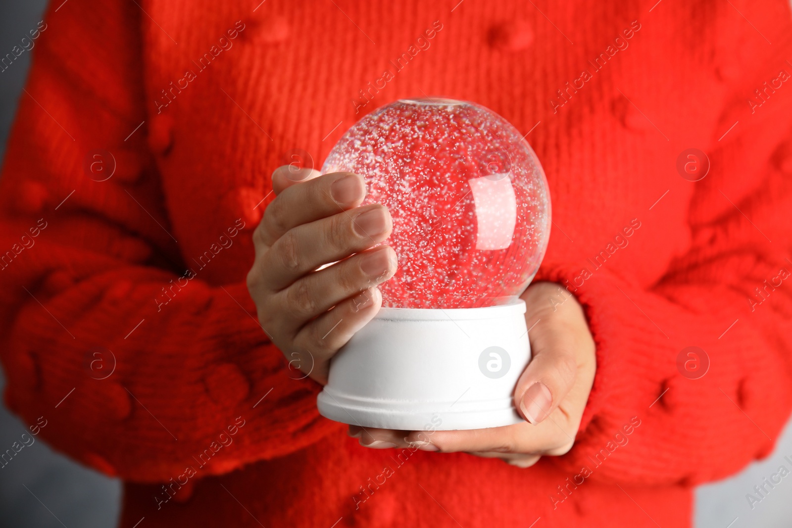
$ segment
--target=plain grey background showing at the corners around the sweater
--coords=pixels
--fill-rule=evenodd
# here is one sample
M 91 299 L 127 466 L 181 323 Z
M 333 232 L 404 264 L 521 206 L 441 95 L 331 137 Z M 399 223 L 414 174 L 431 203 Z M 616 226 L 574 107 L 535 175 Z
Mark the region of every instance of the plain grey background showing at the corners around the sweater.
M 44 0 L 25 0 L 0 5 L 0 56 L 18 44 L 22 36 L 41 20 Z M 35 49 L 35 47 L 34 47 Z M 17 101 L 22 93 L 30 53 L 25 51 L 8 70 L 0 73 L 0 158 Z M 24 96 L 27 97 L 27 96 Z M 0 371 L 0 389 L 5 380 Z M 734 427 L 752 427 L 745 424 Z M 16 416 L 0 406 L 0 446 L 2 450 L 19 441 L 27 428 Z M 779 439 L 775 453 L 749 465 L 735 477 L 700 487 L 695 496 L 696 528 L 788 528 L 792 526 L 792 477 L 785 478 L 761 503 L 748 506 L 745 495 L 792 458 L 792 422 Z M 29 489 L 25 489 L 25 486 Z M 35 494 L 35 496 L 33 495 Z M 71 462 L 36 439 L 10 464 L 0 469 L 0 528 L 83 528 L 116 526 L 121 486 L 117 479 Z M 45 506 L 46 505 L 46 506 Z M 735 520 L 737 519 L 737 520 Z

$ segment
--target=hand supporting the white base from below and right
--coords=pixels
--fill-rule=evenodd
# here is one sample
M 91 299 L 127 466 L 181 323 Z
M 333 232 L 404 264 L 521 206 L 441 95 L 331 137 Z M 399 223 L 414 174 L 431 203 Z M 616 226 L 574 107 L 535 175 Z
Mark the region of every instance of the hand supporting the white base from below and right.
M 543 455 L 561 455 L 574 443 L 594 382 L 594 340 L 580 303 L 554 283 L 535 283 L 521 296 L 533 357 L 514 391 L 526 422 L 473 431 L 390 431 L 349 426 L 368 447 L 418 446 L 465 451 L 528 467 Z

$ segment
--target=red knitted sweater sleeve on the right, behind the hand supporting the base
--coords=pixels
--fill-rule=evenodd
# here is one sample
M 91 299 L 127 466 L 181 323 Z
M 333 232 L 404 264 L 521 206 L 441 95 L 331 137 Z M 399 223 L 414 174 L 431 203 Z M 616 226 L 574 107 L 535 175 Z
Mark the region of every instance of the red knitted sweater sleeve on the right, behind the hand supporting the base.
M 691 243 L 657 283 L 613 268 L 540 270 L 584 306 L 597 359 L 577 443 L 545 463 L 695 484 L 771 453 L 792 409 L 792 93 L 774 97 L 761 114 L 744 97 L 723 112 L 710 172 L 691 182 Z

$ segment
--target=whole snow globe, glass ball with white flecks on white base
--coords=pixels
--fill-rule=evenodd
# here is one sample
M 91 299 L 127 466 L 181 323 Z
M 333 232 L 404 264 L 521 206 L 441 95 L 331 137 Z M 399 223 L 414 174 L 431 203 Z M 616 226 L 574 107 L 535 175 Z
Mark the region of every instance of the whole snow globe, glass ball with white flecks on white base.
M 522 421 L 512 405 L 530 359 L 525 303 L 550 235 L 539 159 L 478 104 L 396 101 L 364 116 L 322 173 L 365 177 L 393 218 L 398 272 L 383 307 L 333 358 L 318 396 L 346 424 L 433 430 Z

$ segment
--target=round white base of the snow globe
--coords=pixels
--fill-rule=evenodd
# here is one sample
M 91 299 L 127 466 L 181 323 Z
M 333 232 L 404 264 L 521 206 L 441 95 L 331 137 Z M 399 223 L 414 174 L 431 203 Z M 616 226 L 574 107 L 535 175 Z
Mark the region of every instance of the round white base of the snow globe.
M 518 424 L 514 387 L 531 359 L 524 313 L 519 299 L 486 308 L 382 308 L 333 357 L 319 412 L 411 431 Z

